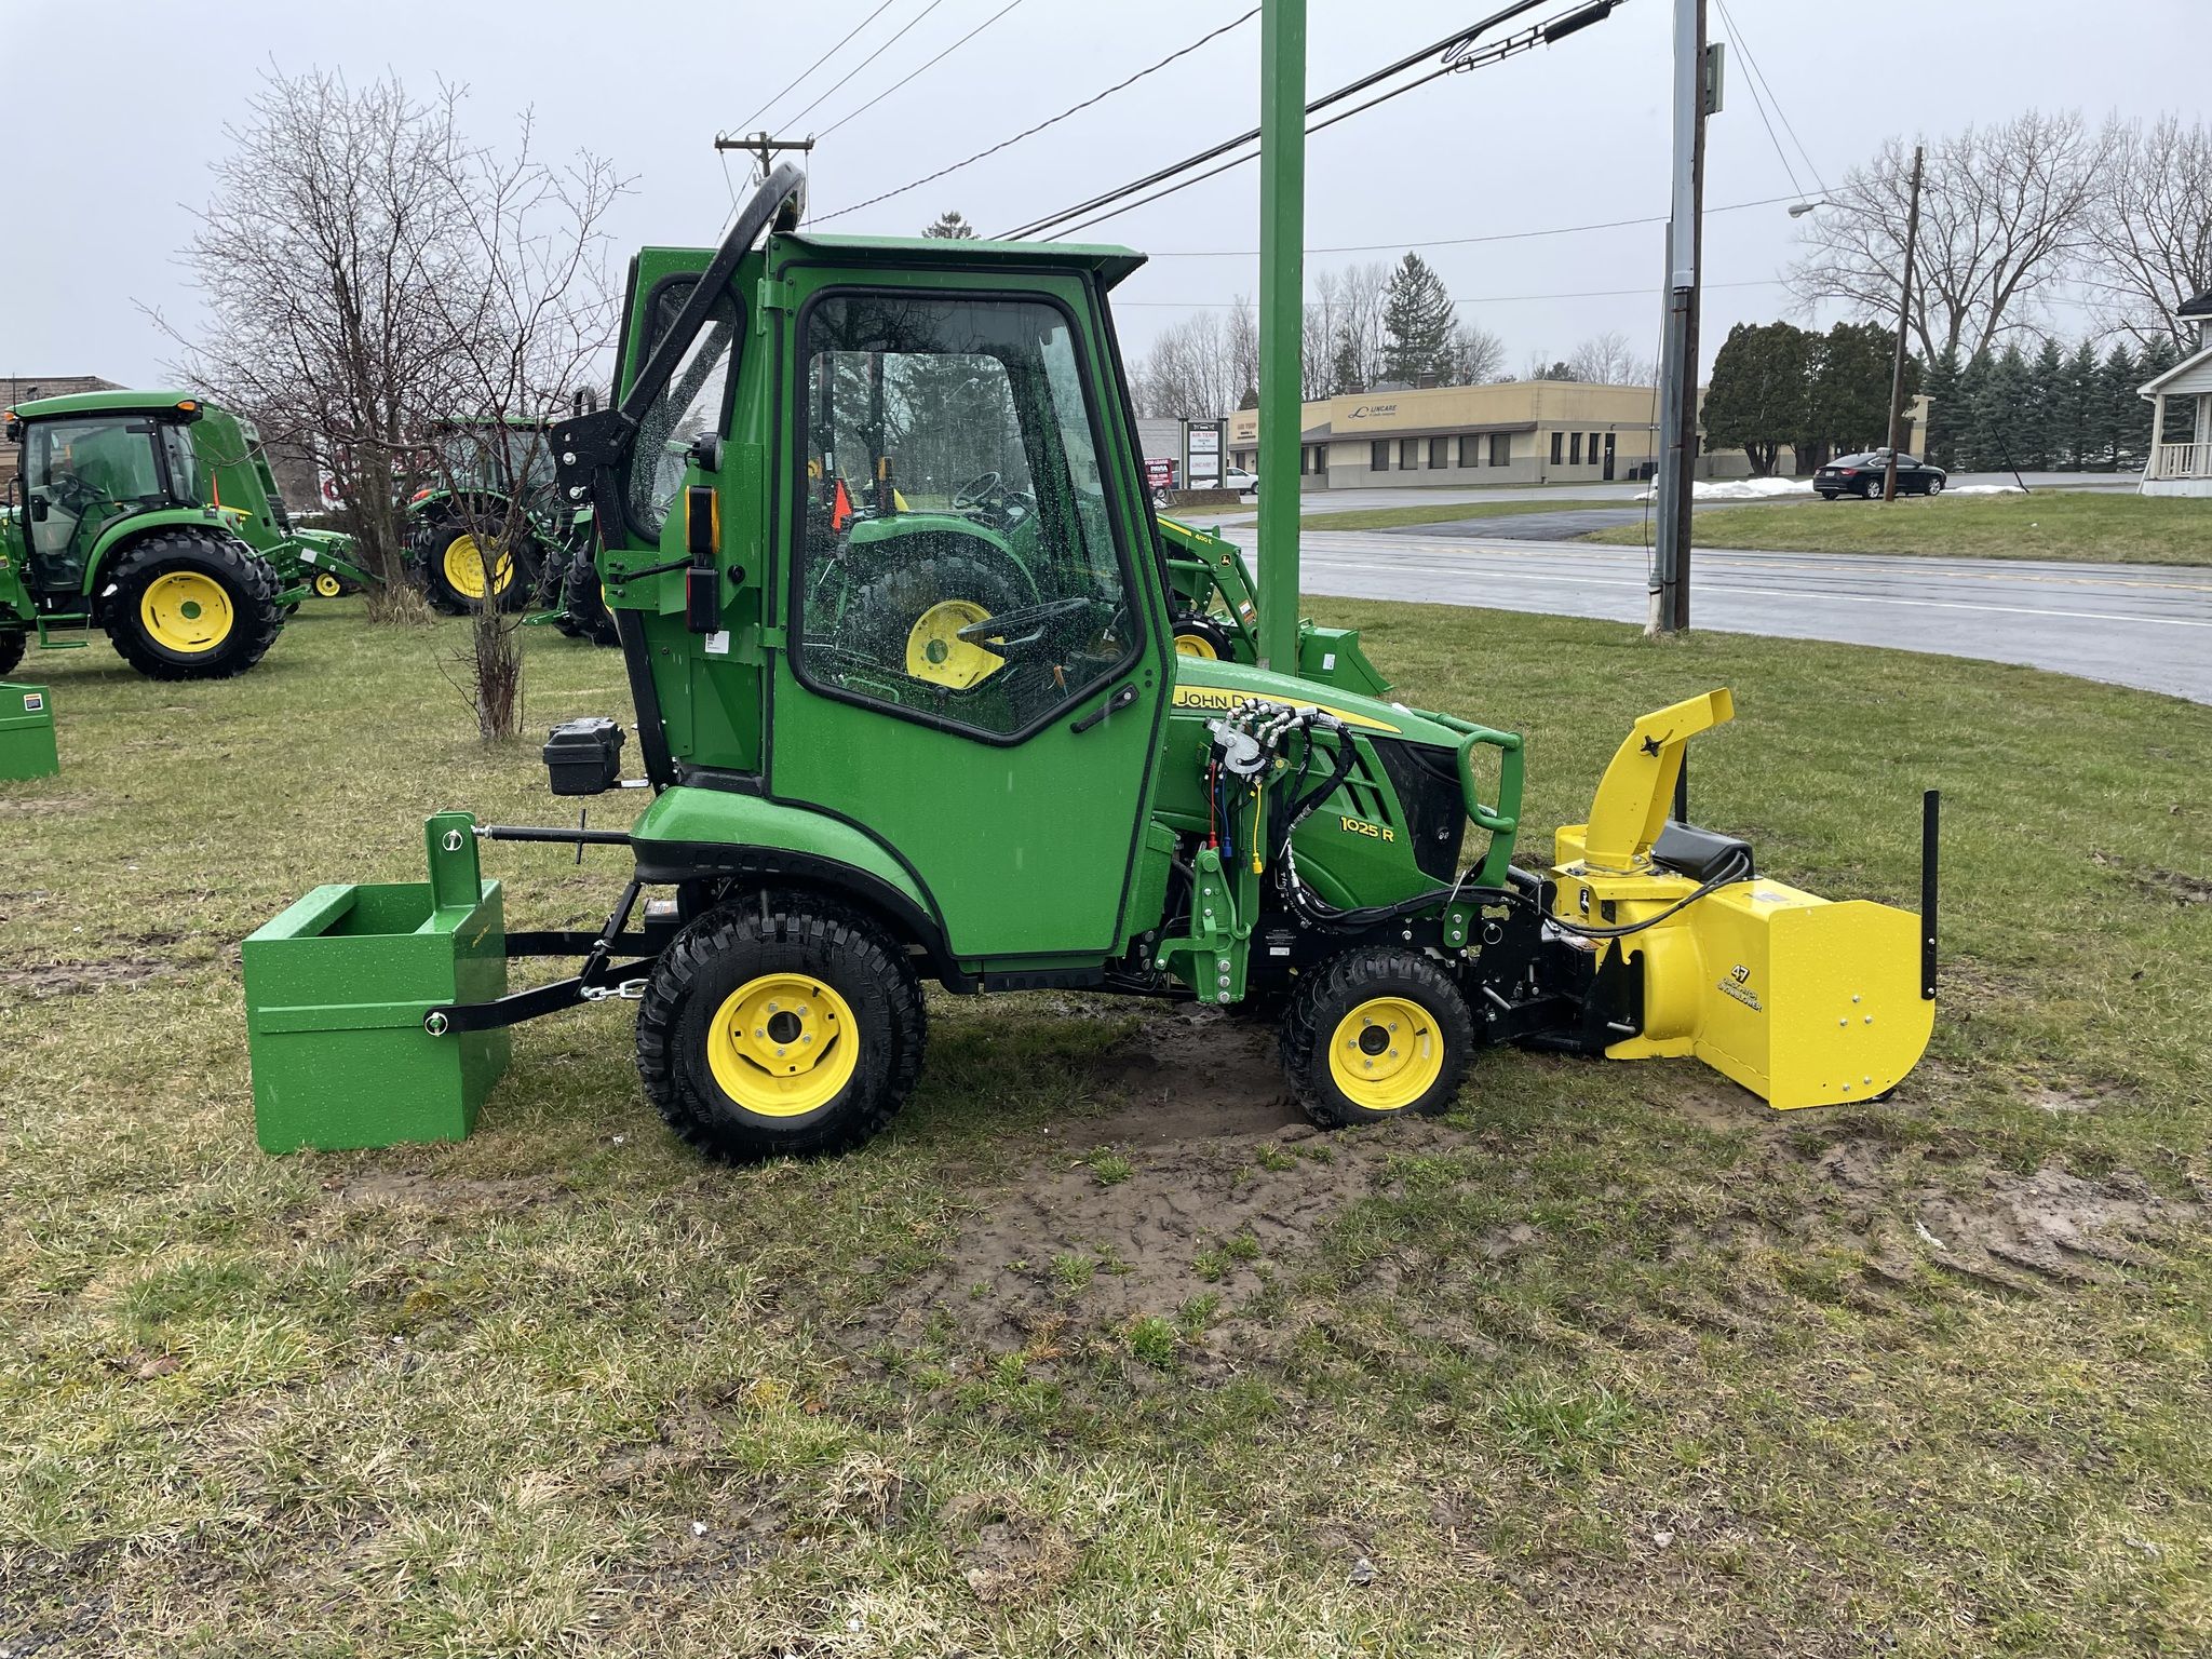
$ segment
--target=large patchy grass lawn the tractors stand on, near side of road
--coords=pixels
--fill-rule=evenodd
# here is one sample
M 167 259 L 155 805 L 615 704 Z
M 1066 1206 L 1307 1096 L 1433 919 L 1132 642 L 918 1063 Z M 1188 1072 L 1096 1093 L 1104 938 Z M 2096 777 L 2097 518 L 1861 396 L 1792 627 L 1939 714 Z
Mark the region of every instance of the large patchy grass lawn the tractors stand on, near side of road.
M 1697 814 L 1776 876 L 1911 902 L 1942 785 L 1929 1062 L 1776 1115 L 1498 1053 L 1444 1119 L 1323 1137 L 1248 1024 L 938 998 L 894 1133 L 726 1170 L 604 1004 L 518 1029 L 467 1144 L 272 1159 L 237 940 L 420 878 L 431 810 L 566 805 L 473 741 L 460 624 L 316 608 L 210 686 L 33 655 L 66 770 L 0 785 L 0 1652 L 2212 1650 L 2205 710 L 1316 611 L 1528 732 L 1531 825 L 1714 684 Z M 613 653 L 533 633 L 529 672 L 538 730 L 628 717 Z M 487 867 L 518 927 L 622 880 Z

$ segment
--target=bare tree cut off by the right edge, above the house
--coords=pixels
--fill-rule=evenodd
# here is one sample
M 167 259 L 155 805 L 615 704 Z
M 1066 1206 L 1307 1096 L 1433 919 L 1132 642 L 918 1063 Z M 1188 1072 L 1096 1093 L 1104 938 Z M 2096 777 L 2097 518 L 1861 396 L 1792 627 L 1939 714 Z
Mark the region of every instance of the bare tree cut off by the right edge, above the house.
M 2174 341 L 2174 310 L 2212 288 L 2212 133 L 2203 122 L 2106 122 L 2088 248 L 2093 307 L 2143 345 Z

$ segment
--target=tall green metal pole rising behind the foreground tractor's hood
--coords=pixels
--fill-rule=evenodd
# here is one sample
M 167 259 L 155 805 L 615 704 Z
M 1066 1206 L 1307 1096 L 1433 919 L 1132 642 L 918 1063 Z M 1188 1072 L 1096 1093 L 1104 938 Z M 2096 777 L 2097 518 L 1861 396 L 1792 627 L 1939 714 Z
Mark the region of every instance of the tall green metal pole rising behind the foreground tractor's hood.
M 1305 0 L 1259 13 L 1259 661 L 1298 672 Z

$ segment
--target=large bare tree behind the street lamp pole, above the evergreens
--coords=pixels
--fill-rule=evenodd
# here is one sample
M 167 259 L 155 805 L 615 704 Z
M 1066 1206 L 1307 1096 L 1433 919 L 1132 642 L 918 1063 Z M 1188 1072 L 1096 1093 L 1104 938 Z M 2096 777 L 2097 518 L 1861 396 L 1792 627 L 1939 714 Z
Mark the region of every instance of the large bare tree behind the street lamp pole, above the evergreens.
M 2086 246 L 2099 150 L 2075 111 L 2026 111 L 1927 146 L 1913 274 L 1924 361 L 1971 358 L 2033 323 L 2044 292 Z M 1829 192 L 1834 206 L 1805 217 L 1805 257 L 1787 272 L 1798 301 L 1896 316 L 1909 177 L 1911 146 L 1891 137 Z

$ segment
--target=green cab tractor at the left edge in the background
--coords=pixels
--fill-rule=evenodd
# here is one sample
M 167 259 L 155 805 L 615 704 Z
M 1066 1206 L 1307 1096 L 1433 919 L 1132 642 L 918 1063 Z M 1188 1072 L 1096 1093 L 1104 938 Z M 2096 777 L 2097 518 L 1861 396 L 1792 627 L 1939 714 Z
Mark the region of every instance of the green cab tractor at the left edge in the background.
M 195 427 L 221 422 L 219 453 L 246 500 L 226 511 Z M 153 679 L 226 679 L 261 661 L 283 611 L 305 595 L 246 538 L 261 533 L 268 493 L 259 447 L 239 422 L 181 392 L 88 392 L 9 411 L 22 471 L 0 526 L 0 675 L 55 637 L 102 628 Z M 228 438 L 230 449 L 221 442 Z M 265 462 L 263 462 L 265 465 Z

